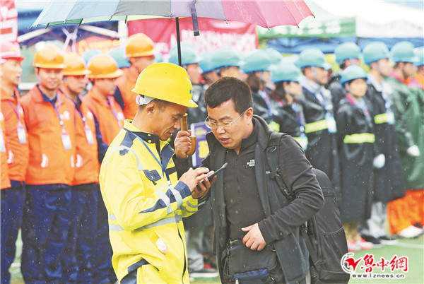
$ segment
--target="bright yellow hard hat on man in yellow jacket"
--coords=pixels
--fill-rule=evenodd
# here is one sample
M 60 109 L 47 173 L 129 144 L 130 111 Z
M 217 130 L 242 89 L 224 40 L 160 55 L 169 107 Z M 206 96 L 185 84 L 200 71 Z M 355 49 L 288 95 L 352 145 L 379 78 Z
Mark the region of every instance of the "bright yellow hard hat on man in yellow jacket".
M 197 107 L 192 100 L 192 83 L 181 66 L 161 62 L 144 69 L 137 79 L 134 93 L 146 95 L 184 107 Z

